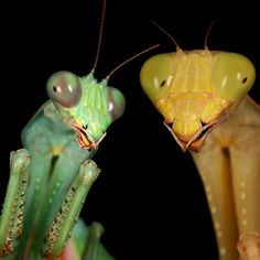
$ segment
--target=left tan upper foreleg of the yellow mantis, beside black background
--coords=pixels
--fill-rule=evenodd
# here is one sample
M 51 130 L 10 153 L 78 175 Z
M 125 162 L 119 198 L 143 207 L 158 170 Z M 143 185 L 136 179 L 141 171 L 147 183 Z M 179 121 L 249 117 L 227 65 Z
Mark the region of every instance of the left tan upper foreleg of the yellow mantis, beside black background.
M 220 260 L 237 260 L 238 229 L 230 165 L 225 151 L 210 140 L 193 159 L 201 174 L 212 213 Z

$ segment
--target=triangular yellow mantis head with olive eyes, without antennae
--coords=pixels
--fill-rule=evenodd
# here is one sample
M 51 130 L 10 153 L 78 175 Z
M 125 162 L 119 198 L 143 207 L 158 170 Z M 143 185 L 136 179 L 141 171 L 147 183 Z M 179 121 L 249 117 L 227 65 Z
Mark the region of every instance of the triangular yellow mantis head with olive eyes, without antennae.
M 141 68 L 144 93 L 183 150 L 197 151 L 206 134 L 242 100 L 256 78 L 245 56 L 208 50 L 159 54 Z

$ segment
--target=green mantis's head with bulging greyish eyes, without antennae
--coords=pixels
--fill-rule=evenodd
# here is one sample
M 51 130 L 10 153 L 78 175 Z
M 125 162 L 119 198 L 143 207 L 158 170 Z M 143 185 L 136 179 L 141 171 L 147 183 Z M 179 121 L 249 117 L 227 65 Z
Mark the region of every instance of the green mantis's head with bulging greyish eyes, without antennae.
M 108 87 L 107 80 L 97 83 L 91 74 L 80 78 L 69 72 L 55 73 L 47 80 L 46 90 L 83 149 L 96 148 L 108 126 L 124 110 L 123 95 Z

